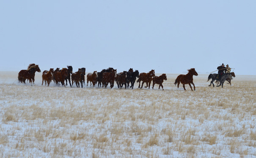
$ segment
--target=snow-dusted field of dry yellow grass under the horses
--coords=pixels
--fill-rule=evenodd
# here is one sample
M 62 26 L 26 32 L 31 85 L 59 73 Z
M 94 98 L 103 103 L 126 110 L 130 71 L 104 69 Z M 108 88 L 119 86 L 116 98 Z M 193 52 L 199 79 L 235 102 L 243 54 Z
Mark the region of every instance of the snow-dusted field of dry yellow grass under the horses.
M 184 73 L 186 74 L 186 73 Z M 161 74 L 156 74 L 161 75 Z M 18 83 L 0 72 L 1 158 L 256 158 L 256 76 L 196 91 Z

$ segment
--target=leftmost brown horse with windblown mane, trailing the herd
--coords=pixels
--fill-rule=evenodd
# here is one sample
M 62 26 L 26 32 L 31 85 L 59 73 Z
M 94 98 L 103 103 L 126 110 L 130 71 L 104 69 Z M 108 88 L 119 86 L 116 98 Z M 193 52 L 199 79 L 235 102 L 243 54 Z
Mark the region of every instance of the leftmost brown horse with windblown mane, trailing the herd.
M 29 80 L 29 82 L 32 85 L 32 81 L 35 81 L 35 73 L 37 72 L 41 72 L 40 68 L 38 65 L 36 64 L 30 64 L 28 66 L 28 70 L 20 70 L 19 74 L 18 74 L 18 80 L 19 82 L 23 82 L 25 83 L 26 79 Z

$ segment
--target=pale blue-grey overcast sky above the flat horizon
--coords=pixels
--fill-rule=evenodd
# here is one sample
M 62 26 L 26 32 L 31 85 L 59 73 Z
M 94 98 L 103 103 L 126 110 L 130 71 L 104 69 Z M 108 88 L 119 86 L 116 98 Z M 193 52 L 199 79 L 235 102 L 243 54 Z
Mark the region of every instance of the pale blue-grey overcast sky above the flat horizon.
M 0 71 L 256 75 L 256 0 L 2 0 Z

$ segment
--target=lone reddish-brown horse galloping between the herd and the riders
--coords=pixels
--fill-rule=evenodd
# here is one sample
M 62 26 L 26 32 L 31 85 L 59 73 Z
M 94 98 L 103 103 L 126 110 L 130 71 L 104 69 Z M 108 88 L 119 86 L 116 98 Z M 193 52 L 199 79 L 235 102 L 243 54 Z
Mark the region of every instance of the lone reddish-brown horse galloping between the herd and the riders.
M 183 84 L 183 88 L 185 89 L 185 84 L 188 84 L 191 88 L 191 91 L 193 91 L 191 84 L 194 86 L 194 91 L 195 91 L 195 84 L 193 83 L 193 75 L 197 76 L 198 73 L 195 71 L 195 68 L 192 68 L 190 70 L 187 70 L 188 73 L 187 75 L 179 75 L 176 80 L 175 80 L 175 85 L 178 83 L 178 88 L 179 88 L 179 83 Z M 190 84 L 191 83 L 191 84 Z

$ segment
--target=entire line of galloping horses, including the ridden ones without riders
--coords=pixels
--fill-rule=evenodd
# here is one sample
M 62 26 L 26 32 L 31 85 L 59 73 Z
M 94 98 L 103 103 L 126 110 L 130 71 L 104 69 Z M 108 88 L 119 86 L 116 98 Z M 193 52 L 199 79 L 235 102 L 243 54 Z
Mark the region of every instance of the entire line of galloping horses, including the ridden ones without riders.
M 29 80 L 29 82 L 34 84 L 35 81 L 35 73 L 36 72 L 41 72 L 40 68 L 36 64 L 30 64 L 28 66 L 27 70 L 21 70 L 18 74 L 18 80 L 21 83 L 25 83 L 26 80 Z M 194 87 L 195 91 L 195 84 L 193 83 L 193 75 L 197 76 L 198 73 L 195 71 L 195 68 L 191 68 L 188 70 L 188 73 L 186 75 L 179 75 L 174 84 L 178 86 L 179 84 L 182 83 L 184 90 L 185 89 L 185 84 L 188 84 L 192 89 L 191 84 Z M 213 82 L 215 80 L 220 82 L 220 85 L 223 87 L 223 83 L 227 80 L 230 85 L 231 85 L 231 79 L 232 76 L 235 77 L 234 72 L 231 72 L 229 74 L 224 74 L 220 79 L 217 79 L 217 74 L 210 74 L 208 77 L 209 81 L 212 79 L 211 84 L 214 87 Z M 136 79 L 138 80 L 136 81 Z M 78 88 L 80 88 L 80 83 L 81 83 L 81 88 L 83 88 L 83 85 L 85 85 L 85 68 L 79 68 L 77 72 L 73 73 L 73 68 L 72 66 L 67 66 L 67 68 L 56 68 L 54 70 L 53 68 L 50 68 L 50 70 L 44 70 L 42 74 L 42 85 L 45 83 L 45 85 L 48 84 L 50 85 L 51 81 L 54 81 L 57 85 L 58 83 L 61 83 L 62 86 L 67 86 L 68 85 L 68 80 L 69 80 L 69 85 L 70 87 L 73 86 L 75 83 Z M 72 84 L 71 84 L 72 80 Z M 149 71 L 148 73 L 142 72 L 139 73 L 138 70 L 133 71 L 132 68 L 130 68 L 128 71 L 123 71 L 120 73 L 116 72 L 116 69 L 113 69 L 112 67 L 109 67 L 108 69 L 103 69 L 101 72 L 94 71 L 93 73 L 88 73 L 87 74 L 87 86 L 88 83 L 90 82 L 91 85 L 94 87 L 98 84 L 98 87 L 107 87 L 108 83 L 110 83 L 110 88 L 113 88 L 114 83 L 116 82 L 118 88 L 121 88 L 124 86 L 124 88 L 132 88 L 134 87 L 134 83 L 137 82 L 139 83 L 138 88 L 143 88 L 143 84 L 146 83 L 145 88 L 150 88 L 151 82 L 152 84 L 152 89 L 154 89 L 154 85 L 158 84 L 159 88 L 162 87 L 162 90 L 164 90 L 162 83 L 164 80 L 167 80 L 166 74 L 162 74 L 160 76 L 156 76 L 154 70 Z M 66 81 L 66 85 L 65 85 Z M 140 82 L 141 86 L 140 86 Z M 131 86 L 129 84 L 131 83 Z M 211 86 L 211 84 L 209 86 Z M 220 86 L 219 85 L 219 86 Z

